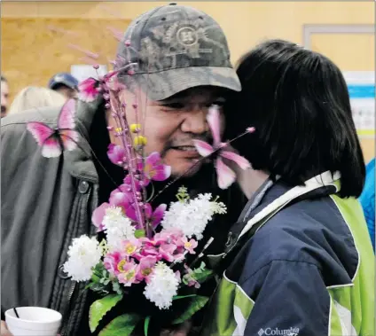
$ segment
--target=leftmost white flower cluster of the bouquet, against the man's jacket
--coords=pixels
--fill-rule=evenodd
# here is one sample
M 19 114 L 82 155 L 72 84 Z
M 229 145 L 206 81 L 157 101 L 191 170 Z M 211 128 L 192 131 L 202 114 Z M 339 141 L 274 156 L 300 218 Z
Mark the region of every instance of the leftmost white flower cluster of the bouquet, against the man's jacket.
M 73 239 L 68 256 L 64 271 L 74 281 L 87 281 L 92 275 L 91 269 L 100 261 L 102 249 L 95 237 L 81 236 Z

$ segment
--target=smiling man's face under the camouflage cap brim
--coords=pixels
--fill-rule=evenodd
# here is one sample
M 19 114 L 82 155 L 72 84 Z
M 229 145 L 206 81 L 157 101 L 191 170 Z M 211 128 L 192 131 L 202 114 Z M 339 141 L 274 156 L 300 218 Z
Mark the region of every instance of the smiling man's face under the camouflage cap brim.
M 220 91 L 212 87 L 184 90 L 161 101 L 147 100 L 144 93 L 137 92 L 136 115 L 132 107 L 135 94 L 124 90 L 122 95 L 121 100 L 128 104 L 129 124 L 142 125 L 142 134 L 147 139 L 145 155 L 160 152 L 164 163 L 171 166 L 172 176 L 180 176 L 200 160 L 192 140 L 208 140 L 208 108 L 224 103 Z M 109 124 L 115 125 L 111 117 Z M 119 143 L 119 139 L 112 140 Z M 197 164 L 187 176 L 192 176 L 199 169 Z

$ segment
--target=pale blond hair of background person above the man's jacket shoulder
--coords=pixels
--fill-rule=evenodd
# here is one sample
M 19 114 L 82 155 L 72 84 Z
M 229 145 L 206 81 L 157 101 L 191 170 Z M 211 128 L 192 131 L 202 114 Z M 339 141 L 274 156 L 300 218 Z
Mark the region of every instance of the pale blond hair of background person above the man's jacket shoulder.
M 54 90 L 27 86 L 14 98 L 8 114 L 25 112 L 38 107 L 62 106 L 66 100 L 67 98 Z

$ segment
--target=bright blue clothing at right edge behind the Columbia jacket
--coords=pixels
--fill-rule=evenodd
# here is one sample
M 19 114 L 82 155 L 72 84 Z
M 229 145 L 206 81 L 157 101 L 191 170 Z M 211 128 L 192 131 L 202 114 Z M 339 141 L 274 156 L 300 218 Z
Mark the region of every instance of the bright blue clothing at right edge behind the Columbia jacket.
M 365 184 L 359 197 L 365 221 L 370 232 L 373 251 L 375 250 L 375 158 L 365 168 Z

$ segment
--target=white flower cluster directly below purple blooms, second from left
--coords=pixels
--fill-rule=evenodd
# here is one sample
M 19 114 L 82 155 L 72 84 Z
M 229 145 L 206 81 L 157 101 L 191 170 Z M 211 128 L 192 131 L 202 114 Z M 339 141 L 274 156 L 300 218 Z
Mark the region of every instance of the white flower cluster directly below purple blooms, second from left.
M 121 207 L 109 207 L 103 218 L 103 226 L 106 232 L 106 241 L 109 251 L 121 249 L 121 242 L 134 238 L 136 228 L 129 218 L 122 214 Z

